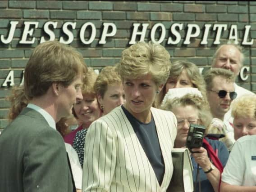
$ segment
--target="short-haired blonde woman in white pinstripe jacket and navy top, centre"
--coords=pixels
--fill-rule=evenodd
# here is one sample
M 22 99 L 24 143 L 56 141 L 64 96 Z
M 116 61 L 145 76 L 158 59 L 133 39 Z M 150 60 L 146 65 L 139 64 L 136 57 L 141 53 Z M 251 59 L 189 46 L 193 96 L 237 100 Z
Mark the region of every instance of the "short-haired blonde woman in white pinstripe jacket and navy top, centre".
M 125 49 L 117 65 L 126 103 L 93 122 L 85 139 L 83 192 L 165 192 L 173 174 L 173 113 L 151 107 L 170 55 L 151 42 Z

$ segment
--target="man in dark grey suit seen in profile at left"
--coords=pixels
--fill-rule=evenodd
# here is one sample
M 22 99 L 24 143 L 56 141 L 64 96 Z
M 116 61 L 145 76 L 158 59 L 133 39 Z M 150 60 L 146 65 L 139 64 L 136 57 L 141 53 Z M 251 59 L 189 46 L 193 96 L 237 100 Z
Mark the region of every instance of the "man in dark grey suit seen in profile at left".
M 29 104 L 0 134 L 0 192 L 72 192 L 64 140 L 55 128 L 82 99 L 81 54 L 57 41 L 32 52 L 25 67 Z

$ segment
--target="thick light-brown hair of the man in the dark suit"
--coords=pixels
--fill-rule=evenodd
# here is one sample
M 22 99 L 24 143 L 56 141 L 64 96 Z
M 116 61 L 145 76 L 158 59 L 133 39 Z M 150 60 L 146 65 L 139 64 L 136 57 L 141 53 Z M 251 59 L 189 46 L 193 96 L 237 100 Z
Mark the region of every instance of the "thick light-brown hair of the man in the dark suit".
M 58 41 L 46 41 L 33 50 L 24 73 L 24 89 L 28 99 L 46 94 L 54 82 L 65 87 L 87 71 L 82 55 Z

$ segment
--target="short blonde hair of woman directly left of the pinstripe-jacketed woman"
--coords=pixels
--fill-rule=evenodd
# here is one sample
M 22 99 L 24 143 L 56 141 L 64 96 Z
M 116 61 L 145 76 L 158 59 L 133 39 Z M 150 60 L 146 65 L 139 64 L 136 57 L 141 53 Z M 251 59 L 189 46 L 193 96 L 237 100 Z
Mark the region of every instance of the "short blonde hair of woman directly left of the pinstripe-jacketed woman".
M 122 80 L 116 70 L 116 67 L 104 67 L 98 75 L 94 84 L 94 90 L 96 92 L 96 95 L 100 95 L 101 98 L 104 98 L 108 86 L 114 84 L 122 85 Z

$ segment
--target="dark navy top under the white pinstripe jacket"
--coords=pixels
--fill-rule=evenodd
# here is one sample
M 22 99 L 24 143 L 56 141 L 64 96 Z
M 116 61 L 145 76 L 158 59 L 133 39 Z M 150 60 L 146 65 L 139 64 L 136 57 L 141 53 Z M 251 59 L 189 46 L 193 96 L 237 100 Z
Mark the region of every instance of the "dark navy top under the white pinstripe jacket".
M 123 106 L 122 109 L 131 125 L 133 126 L 133 130 L 136 133 L 137 138 L 139 139 L 153 170 L 155 171 L 155 176 L 158 180 L 158 183 L 161 185 L 165 174 L 165 165 L 155 129 L 155 121 L 153 116 L 151 122 L 142 123 L 141 121 L 138 121 Z

